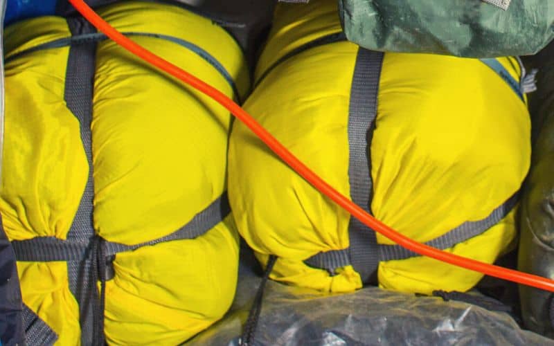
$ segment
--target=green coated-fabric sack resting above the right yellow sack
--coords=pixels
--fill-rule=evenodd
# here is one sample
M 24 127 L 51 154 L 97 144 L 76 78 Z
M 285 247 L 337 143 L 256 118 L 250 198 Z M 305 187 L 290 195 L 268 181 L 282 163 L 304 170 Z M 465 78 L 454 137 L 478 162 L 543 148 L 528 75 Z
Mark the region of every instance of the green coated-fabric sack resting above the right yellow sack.
M 368 49 L 498 57 L 537 53 L 554 38 L 554 2 L 339 0 L 346 37 Z

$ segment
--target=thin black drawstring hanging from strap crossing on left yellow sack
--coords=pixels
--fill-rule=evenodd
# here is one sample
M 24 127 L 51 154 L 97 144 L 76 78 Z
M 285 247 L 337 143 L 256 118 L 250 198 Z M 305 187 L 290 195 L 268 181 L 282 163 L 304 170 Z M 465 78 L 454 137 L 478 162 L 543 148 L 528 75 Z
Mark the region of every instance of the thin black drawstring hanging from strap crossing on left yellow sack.
M 90 283 L 94 285 L 91 289 L 93 295 L 93 345 L 104 346 L 104 311 L 106 302 L 106 271 L 107 255 L 105 240 L 95 235 L 91 239 L 91 271 Z M 100 281 L 100 292 L 98 292 L 98 281 Z

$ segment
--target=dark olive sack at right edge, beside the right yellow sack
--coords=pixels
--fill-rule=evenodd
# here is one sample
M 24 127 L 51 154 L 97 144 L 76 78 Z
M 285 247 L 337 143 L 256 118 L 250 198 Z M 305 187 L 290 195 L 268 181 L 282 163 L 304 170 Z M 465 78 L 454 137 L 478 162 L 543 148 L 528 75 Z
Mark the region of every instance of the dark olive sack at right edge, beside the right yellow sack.
M 548 52 L 548 51 L 546 51 Z M 546 53 L 545 52 L 545 53 Z M 533 160 L 521 196 L 519 270 L 554 279 L 554 62 L 548 56 L 530 99 Z M 554 338 L 554 293 L 519 286 L 525 327 Z

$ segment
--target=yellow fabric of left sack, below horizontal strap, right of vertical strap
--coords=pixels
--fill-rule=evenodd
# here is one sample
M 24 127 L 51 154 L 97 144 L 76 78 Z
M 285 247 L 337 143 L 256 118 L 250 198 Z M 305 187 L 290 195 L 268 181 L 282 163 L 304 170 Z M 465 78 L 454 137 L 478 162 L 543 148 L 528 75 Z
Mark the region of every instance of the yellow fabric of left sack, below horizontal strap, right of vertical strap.
M 118 255 L 106 287 L 108 342 L 178 345 L 220 319 L 235 293 L 237 244 L 229 216 L 197 239 Z

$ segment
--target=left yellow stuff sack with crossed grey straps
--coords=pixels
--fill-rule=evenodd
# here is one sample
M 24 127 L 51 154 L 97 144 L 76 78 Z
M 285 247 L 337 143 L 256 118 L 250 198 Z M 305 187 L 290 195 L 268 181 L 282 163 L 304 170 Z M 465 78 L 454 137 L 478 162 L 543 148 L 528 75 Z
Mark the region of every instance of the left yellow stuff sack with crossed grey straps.
M 98 12 L 229 97 L 247 92 L 242 51 L 210 19 L 140 1 Z M 6 29 L 1 215 L 23 301 L 57 345 L 104 345 L 104 333 L 177 345 L 224 315 L 239 248 L 230 122 L 82 17 Z

